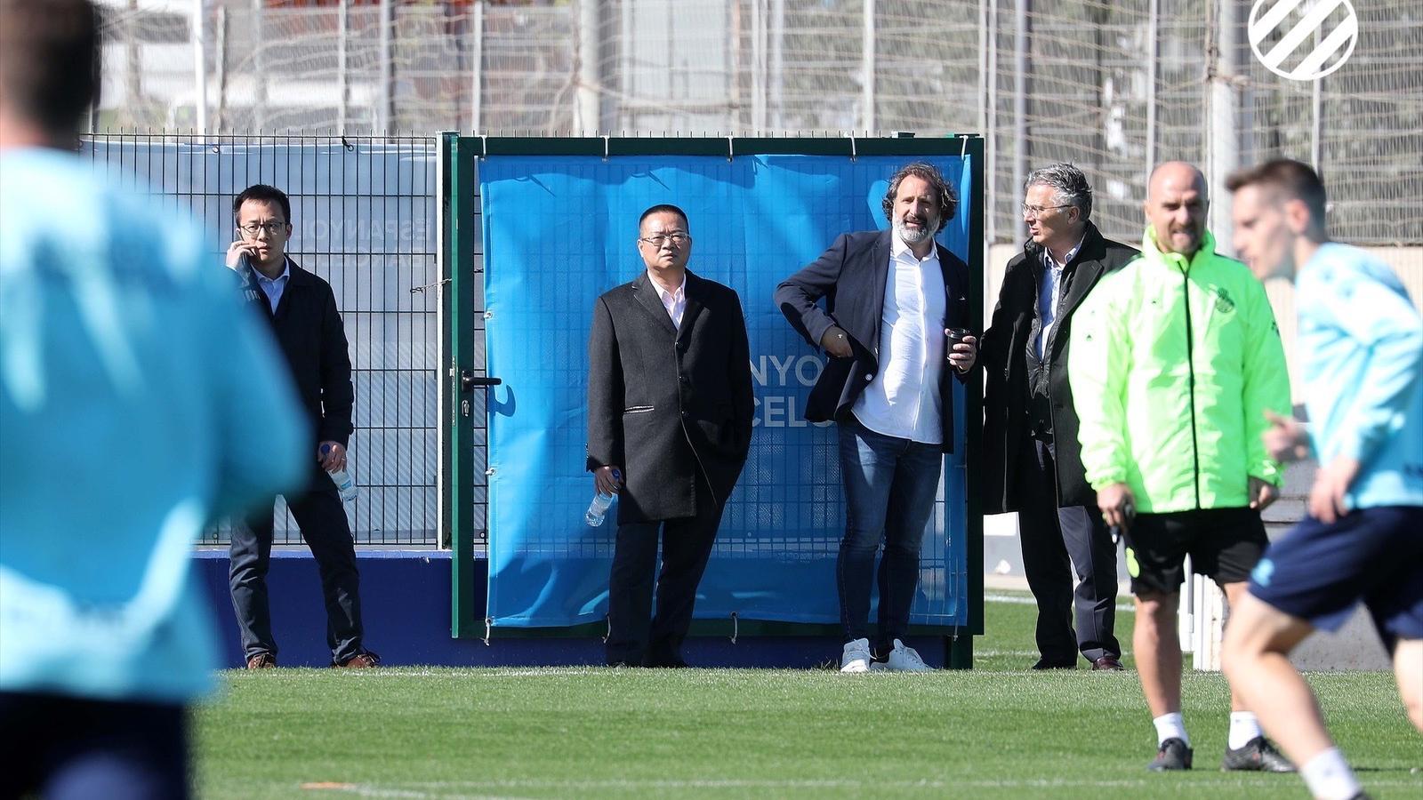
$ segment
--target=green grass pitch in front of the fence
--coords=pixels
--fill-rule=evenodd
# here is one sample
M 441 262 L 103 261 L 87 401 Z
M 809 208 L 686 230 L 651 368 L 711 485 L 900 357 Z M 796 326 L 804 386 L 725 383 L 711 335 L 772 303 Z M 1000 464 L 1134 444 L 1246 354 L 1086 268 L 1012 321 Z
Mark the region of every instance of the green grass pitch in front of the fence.
M 1144 770 L 1136 675 L 1033 673 L 1033 608 L 986 604 L 978 669 L 279 669 L 196 716 L 203 797 L 1305 797 L 1222 773 L 1228 699 L 1188 673 L 1197 769 Z M 1007 602 L 1017 601 L 1017 602 Z M 1130 642 L 1130 614 L 1121 614 Z M 1423 797 L 1386 673 L 1311 676 L 1365 786 Z

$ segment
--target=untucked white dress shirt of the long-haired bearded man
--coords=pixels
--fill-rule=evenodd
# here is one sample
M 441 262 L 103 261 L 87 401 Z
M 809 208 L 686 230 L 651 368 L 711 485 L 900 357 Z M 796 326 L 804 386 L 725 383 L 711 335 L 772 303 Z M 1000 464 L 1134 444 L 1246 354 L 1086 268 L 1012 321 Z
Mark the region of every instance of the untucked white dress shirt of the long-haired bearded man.
M 855 400 L 852 411 L 867 428 L 921 444 L 942 444 L 943 312 L 946 306 L 939 251 L 922 260 L 892 236 L 885 302 L 879 317 L 879 373 Z

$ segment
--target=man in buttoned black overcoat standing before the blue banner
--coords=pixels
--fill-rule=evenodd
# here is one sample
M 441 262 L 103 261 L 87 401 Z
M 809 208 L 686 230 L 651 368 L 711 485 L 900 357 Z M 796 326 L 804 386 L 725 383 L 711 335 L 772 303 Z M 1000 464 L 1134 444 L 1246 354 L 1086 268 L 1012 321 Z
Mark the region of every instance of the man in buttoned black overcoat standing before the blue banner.
M 618 494 L 608 663 L 675 668 L 687 666 L 697 584 L 751 447 L 750 346 L 736 292 L 687 270 L 687 215 L 655 205 L 638 229 L 646 269 L 593 306 L 588 470 L 599 494 Z

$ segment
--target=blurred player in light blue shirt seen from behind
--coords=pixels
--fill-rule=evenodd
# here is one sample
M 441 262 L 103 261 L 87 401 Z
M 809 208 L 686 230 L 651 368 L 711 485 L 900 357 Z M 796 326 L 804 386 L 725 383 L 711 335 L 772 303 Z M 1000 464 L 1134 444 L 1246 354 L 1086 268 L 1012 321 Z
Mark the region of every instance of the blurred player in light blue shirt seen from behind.
M 0 797 L 189 793 L 216 666 L 192 542 L 309 461 L 216 248 L 61 151 L 97 44 L 87 0 L 0 0 Z

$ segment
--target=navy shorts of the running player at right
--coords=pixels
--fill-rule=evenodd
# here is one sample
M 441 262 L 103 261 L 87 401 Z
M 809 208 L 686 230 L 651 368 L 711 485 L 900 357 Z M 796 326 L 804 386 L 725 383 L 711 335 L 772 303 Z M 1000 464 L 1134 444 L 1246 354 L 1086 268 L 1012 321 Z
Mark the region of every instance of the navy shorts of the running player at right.
M 1363 601 L 1389 649 L 1423 639 L 1423 508 L 1363 508 L 1332 525 L 1306 517 L 1269 545 L 1249 594 L 1325 631 Z

